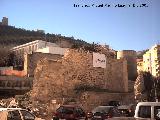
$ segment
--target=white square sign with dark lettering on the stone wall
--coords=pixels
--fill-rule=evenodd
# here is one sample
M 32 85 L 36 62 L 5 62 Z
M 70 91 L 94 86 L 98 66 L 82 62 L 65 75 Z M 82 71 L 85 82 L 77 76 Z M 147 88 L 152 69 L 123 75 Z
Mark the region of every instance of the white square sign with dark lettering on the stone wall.
M 93 53 L 93 67 L 106 68 L 106 57 L 104 54 Z

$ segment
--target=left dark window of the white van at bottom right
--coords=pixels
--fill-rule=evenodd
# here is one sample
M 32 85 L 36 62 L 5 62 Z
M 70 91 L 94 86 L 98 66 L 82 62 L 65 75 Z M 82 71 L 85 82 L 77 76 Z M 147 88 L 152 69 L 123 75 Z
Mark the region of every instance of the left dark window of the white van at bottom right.
M 151 118 L 151 106 L 140 106 L 138 116 L 141 118 Z

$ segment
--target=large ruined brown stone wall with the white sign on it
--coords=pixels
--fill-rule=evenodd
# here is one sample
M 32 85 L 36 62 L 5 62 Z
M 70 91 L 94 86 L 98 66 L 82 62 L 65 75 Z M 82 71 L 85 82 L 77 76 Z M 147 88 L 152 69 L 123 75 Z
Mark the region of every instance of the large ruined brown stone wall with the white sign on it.
M 42 72 L 41 76 L 38 76 L 39 71 Z M 37 65 L 35 76 L 35 81 L 41 78 L 46 80 L 48 76 L 47 79 L 54 83 L 57 82 L 57 77 L 63 87 L 71 90 L 97 88 L 128 92 L 126 61 L 108 58 L 106 68 L 95 68 L 92 64 L 92 53 L 89 52 L 70 50 L 62 60 L 56 62 L 54 58 L 42 59 Z

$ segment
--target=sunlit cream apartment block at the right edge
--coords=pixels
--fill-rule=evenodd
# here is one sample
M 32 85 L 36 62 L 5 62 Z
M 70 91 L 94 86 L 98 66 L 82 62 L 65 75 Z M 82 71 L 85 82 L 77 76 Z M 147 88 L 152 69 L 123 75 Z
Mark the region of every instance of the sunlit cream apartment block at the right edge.
M 154 45 L 143 55 L 143 71 L 160 76 L 160 45 Z

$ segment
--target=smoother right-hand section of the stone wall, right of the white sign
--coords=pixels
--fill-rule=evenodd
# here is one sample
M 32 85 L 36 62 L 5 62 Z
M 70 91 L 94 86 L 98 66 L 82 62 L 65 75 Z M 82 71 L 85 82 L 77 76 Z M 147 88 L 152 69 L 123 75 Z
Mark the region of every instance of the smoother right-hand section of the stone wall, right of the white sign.
M 110 88 L 117 92 L 128 92 L 128 74 L 127 74 L 127 61 L 123 59 L 111 59 L 108 63 L 108 70 L 106 71 L 110 79 Z

